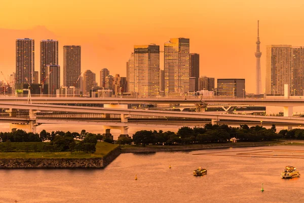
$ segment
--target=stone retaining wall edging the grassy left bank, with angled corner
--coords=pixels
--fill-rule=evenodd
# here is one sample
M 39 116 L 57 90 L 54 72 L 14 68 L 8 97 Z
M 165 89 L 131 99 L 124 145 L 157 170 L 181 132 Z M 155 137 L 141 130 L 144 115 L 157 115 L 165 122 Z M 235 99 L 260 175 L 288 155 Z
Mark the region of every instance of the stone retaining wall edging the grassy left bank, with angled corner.
M 0 168 L 104 168 L 121 153 L 116 148 L 94 158 L 2 158 Z

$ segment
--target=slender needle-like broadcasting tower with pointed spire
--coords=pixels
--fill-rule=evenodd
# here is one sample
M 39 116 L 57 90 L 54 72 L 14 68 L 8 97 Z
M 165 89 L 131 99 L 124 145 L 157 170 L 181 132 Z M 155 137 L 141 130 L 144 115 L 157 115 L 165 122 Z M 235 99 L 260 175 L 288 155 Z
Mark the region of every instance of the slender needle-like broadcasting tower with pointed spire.
M 261 55 L 259 50 L 259 21 L 257 21 L 257 40 L 255 54 L 255 94 L 262 94 L 262 80 L 261 80 Z

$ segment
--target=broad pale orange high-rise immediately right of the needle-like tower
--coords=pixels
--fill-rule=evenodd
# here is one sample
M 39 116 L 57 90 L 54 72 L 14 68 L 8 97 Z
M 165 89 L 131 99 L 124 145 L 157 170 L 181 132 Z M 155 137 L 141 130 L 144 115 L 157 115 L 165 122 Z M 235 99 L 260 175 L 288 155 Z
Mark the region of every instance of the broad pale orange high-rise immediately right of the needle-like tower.
M 284 84 L 292 90 L 293 49 L 291 45 L 266 46 L 266 94 L 284 95 Z

